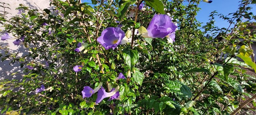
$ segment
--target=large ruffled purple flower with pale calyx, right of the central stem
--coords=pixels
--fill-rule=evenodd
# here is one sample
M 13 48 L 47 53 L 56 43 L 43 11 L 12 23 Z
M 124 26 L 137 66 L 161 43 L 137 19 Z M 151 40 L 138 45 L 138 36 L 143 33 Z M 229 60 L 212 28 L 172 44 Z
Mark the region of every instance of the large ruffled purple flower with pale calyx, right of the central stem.
M 147 28 L 144 38 L 164 38 L 178 28 L 168 15 L 155 15 Z M 143 35 L 143 34 L 142 34 Z

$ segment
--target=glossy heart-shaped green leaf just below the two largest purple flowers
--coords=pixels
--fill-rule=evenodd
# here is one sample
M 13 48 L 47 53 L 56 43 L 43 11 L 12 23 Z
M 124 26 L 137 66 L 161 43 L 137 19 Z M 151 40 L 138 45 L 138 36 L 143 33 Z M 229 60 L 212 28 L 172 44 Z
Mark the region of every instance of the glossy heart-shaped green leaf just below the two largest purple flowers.
M 133 66 L 137 63 L 139 59 L 139 53 L 137 50 L 123 50 L 124 62 L 127 64 L 128 68 L 133 71 Z

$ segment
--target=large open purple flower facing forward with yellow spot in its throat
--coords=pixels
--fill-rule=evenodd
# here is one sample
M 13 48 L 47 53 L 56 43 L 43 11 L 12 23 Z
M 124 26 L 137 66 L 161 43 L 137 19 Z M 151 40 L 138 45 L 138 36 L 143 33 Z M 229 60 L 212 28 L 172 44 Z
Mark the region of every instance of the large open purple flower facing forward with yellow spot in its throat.
M 119 27 L 109 27 L 102 31 L 101 36 L 97 41 L 106 49 L 112 48 L 113 50 L 123 40 L 125 34 Z

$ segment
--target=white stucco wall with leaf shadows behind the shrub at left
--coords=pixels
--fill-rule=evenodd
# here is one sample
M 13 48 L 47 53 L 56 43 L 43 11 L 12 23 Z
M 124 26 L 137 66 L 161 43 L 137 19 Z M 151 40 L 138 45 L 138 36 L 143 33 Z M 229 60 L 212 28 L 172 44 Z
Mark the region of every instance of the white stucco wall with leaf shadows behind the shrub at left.
M 49 5 L 50 0 L 0 0 L 0 2 L 10 4 L 10 6 L 7 6 L 7 7 L 9 7 L 11 10 L 7 9 L 7 8 L 5 9 L 5 11 L 11 13 L 11 14 L 7 15 L 9 18 L 11 16 L 19 15 L 19 14 L 17 14 L 18 10 L 15 10 L 17 7 L 19 7 L 19 4 L 23 4 L 24 6 L 27 6 L 31 9 L 38 9 L 38 10 L 40 10 L 40 9 L 43 10 L 45 8 L 48 8 L 48 9 L 52 8 Z M 3 11 L 2 7 L 0 7 L 0 11 Z M 2 27 L 1 24 L 0 24 L 0 31 L 1 31 L 1 34 L 4 31 L 4 27 Z M 11 36 L 11 34 L 9 34 L 9 35 Z M 14 46 L 14 44 L 12 43 L 13 41 L 15 41 L 15 39 L 5 40 L 5 41 L 0 40 L 0 45 L 8 46 L 8 48 L 10 49 L 9 51 L 11 53 L 18 52 L 19 53 L 18 56 L 22 56 L 22 55 L 24 55 L 24 53 L 25 54 L 27 53 L 27 49 L 24 46 L 22 46 L 22 45 Z M 3 46 L 1 46 L 1 47 L 3 47 Z M 4 50 L 0 49 L 0 53 L 4 53 Z M 2 57 L 0 57 L 0 58 L 2 58 Z M 11 75 L 11 74 L 14 72 L 20 73 L 24 69 L 24 67 L 22 69 L 20 69 L 20 63 L 18 61 L 16 61 L 13 64 L 12 63 L 9 64 L 9 63 L 10 63 L 9 60 L 5 60 L 3 62 L 0 60 L 0 79 L 18 79 L 18 80 L 20 80 L 22 78 L 22 75 L 20 75 L 20 74 Z

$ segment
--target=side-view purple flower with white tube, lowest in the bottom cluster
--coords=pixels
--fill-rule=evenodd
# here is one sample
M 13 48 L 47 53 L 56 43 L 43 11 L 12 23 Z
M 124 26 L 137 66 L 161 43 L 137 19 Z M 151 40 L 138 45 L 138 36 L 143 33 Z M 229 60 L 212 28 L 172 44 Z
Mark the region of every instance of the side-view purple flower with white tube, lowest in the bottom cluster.
M 101 86 L 101 88 L 98 91 L 97 99 L 96 99 L 96 104 L 100 103 L 104 98 L 111 97 L 116 94 L 116 92 L 119 90 L 119 86 L 115 88 L 115 90 L 111 92 L 106 92 L 105 89 Z

